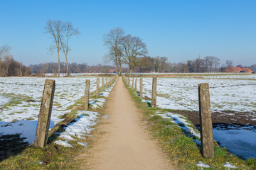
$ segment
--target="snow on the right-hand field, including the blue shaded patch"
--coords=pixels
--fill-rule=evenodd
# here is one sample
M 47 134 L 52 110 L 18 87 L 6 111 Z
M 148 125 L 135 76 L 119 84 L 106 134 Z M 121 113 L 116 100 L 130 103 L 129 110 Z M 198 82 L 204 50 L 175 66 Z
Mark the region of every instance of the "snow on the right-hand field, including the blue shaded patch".
M 256 121 L 256 81 L 249 79 L 158 78 L 156 104 L 159 108 L 198 111 L 198 84 L 210 86 L 211 111 L 244 112 Z M 132 79 L 130 79 L 132 86 Z M 139 81 L 137 83 L 139 89 Z M 143 78 L 143 95 L 151 98 L 152 79 Z M 148 101 L 150 102 L 150 101 Z M 167 115 L 172 117 L 172 115 Z M 178 116 L 174 121 L 178 120 Z M 213 138 L 233 154 L 245 159 L 256 158 L 256 127 L 213 128 Z

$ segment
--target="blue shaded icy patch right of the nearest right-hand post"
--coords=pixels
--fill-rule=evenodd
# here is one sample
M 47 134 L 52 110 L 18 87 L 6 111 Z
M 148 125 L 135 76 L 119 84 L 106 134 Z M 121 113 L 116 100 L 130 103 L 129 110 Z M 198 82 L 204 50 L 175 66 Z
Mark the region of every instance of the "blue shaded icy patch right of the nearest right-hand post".
M 239 157 L 256 159 L 256 126 L 213 125 L 213 138 Z

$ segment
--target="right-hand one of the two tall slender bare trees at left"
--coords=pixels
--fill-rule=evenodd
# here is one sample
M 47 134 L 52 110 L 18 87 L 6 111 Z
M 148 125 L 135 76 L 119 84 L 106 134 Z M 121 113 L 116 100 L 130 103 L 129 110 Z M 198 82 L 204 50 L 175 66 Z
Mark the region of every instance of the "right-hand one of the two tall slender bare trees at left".
M 65 55 L 65 60 L 66 60 L 66 65 L 67 65 L 67 73 L 69 76 L 70 72 L 68 70 L 68 57 L 67 56 L 68 56 L 68 52 L 70 51 L 70 47 L 68 46 L 68 41 L 74 35 L 78 35 L 79 31 L 77 28 L 74 28 L 74 26 L 70 22 L 67 22 L 67 23 L 61 22 L 61 25 L 62 25 L 61 27 L 63 29 L 63 35 L 60 36 L 60 45 L 61 45 L 60 50 L 62 50 Z

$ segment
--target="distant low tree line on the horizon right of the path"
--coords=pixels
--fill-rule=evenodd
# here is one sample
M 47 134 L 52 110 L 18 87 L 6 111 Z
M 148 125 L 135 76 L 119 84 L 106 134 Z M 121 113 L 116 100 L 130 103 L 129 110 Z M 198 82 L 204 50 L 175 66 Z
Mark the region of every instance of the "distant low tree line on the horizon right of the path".
M 134 72 L 177 72 L 177 73 L 203 73 L 203 72 L 224 72 L 227 67 L 234 67 L 233 61 L 226 60 L 224 64 L 220 59 L 214 56 L 198 57 L 195 60 L 186 62 L 169 62 L 167 57 L 141 57 L 137 59 L 137 66 Z M 251 66 L 235 67 L 249 68 L 256 72 L 256 64 Z

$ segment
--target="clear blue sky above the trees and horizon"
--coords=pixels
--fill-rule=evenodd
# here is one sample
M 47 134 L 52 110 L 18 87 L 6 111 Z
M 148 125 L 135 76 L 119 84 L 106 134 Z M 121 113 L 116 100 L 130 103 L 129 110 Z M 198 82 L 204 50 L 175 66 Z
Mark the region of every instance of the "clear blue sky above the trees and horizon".
M 0 45 L 23 64 L 58 62 L 44 34 L 46 21 L 70 21 L 81 35 L 70 40 L 68 62 L 103 64 L 102 36 L 121 27 L 146 42 L 149 56 L 186 62 L 219 57 L 256 64 L 256 1 L 20 1 L 0 0 Z M 65 62 L 64 55 L 60 59 Z

